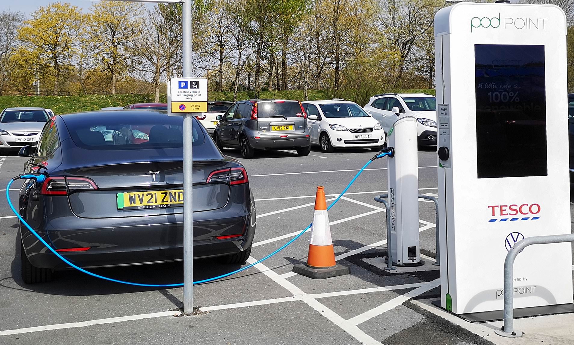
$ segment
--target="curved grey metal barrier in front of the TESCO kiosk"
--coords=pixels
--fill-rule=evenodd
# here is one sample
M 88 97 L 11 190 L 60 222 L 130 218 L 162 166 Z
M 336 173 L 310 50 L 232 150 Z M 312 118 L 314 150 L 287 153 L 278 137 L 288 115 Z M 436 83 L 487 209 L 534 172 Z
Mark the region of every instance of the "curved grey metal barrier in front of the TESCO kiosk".
M 522 332 L 514 330 L 514 305 L 513 305 L 513 266 L 514 259 L 525 247 L 530 245 L 544 245 L 547 243 L 574 242 L 574 234 L 565 235 L 548 235 L 527 237 L 515 243 L 515 245 L 506 254 L 504 261 L 504 326 L 502 329 L 494 331 L 500 336 L 506 338 L 517 338 L 522 336 Z

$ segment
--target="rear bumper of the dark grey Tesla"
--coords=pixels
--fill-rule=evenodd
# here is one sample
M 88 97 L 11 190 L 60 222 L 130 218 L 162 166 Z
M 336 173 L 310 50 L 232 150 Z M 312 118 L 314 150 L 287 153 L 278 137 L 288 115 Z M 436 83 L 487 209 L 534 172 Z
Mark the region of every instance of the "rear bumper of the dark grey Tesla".
M 197 216 L 199 215 L 194 214 L 194 218 Z M 119 226 L 118 219 L 99 219 L 100 224 L 102 220 L 108 220 L 110 226 L 83 228 L 82 230 L 38 231 L 38 234 L 41 234 L 55 249 L 90 247 L 86 251 L 60 252 L 69 261 L 82 268 L 183 260 L 183 215 L 149 218 L 154 219 L 154 222 Z M 86 219 L 80 219 L 80 221 L 84 224 L 90 222 Z M 252 223 L 254 220 L 252 222 L 251 215 L 194 221 L 193 258 L 218 257 L 246 249 L 253 242 L 255 225 Z M 222 235 L 238 234 L 241 236 L 227 239 L 216 238 Z M 22 242 L 33 266 L 51 269 L 69 267 L 39 243 L 31 232 L 23 232 Z

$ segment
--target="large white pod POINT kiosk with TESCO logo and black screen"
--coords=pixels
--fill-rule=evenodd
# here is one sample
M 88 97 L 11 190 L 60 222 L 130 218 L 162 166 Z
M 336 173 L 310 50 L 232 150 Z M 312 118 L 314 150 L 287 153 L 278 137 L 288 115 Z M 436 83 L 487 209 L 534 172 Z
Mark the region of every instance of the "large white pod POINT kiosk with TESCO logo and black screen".
M 509 249 L 571 233 L 566 19 L 461 2 L 436 14 L 435 44 L 441 307 L 502 319 L 478 313 L 503 309 Z M 514 308 L 572 304 L 571 243 L 529 246 L 514 277 Z

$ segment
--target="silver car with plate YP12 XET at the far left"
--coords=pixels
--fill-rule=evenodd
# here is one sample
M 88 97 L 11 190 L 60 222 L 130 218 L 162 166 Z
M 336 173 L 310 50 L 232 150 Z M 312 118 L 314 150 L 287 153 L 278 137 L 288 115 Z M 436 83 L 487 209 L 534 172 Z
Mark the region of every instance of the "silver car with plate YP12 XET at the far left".
M 40 131 L 48 121 L 44 108 L 6 108 L 0 114 L 0 150 L 38 144 Z

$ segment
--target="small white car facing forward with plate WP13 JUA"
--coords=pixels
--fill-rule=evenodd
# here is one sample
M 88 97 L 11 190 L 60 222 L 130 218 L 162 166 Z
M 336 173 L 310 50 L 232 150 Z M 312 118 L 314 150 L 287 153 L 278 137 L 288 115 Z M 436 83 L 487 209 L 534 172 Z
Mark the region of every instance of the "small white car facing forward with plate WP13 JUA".
M 313 100 L 302 102 L 311 132 L 311 145 L 323 152 L 335 148 L 370 148 L 379 151 L 385 145 L 381 123 L 355 102 L 347 100 Z

